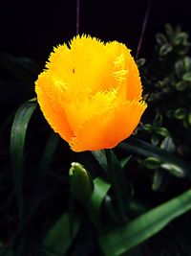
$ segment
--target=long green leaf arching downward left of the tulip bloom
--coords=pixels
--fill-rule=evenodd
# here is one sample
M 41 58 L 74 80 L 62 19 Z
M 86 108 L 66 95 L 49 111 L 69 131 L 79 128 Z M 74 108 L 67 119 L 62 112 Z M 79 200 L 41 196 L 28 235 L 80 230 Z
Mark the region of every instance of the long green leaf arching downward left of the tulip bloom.
M 23 161 L 26 132 L 36 103 L 28 101 L 16 111 L 11 127 L 11 170 L 18 201 L 19 216 L 23 215 Z

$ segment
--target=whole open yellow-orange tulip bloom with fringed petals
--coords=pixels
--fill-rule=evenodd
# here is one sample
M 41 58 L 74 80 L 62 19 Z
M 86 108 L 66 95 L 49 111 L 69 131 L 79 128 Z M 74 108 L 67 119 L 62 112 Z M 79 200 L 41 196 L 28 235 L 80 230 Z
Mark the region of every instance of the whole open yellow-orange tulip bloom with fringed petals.
M 35 91 L 45 118 L 73 151 L 114 148 L 146 108 L 130 50 L 89 35 L 53 49 Z

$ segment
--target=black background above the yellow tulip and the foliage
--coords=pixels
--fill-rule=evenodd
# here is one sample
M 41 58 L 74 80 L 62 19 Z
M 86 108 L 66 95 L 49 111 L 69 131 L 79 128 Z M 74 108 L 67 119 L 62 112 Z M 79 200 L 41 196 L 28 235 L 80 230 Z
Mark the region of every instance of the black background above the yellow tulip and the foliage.
M 79 32 L 118 40 L 136 55 L 148 0 L 81 0 Z M 191 33 L 189 1 L 152 1 L 140 51 L 153 51 L 155 35 L 166 22 Z M 44 63 L 53 46 L 75 35 L 75 0 L 5 1 L 0 10 L 0 51 Z

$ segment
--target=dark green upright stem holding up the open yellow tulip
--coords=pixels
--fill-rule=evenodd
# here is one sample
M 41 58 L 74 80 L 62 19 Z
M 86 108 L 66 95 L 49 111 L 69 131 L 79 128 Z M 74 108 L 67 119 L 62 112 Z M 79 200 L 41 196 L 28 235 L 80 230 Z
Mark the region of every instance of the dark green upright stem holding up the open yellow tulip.
M 115 165 L 113 163 L 112 159 L 112 151 L 111 150 L 105 150 L 105 155 L 107 159 L 107 166 L 108 166 L 108 175 L 112 183 L 112 188 L 114 190 L 114 194 L 117 200 L 117 206 L 118 211 L 120 213 L 120 216 L 122 217 L 122 221 L 127 221 L 125 209 L 124 209 L 124 202 L 122 197 L 122 191 L 121 191 L 121 184 L 122 181 L 119 180 L 117 171 L 115 170 Z

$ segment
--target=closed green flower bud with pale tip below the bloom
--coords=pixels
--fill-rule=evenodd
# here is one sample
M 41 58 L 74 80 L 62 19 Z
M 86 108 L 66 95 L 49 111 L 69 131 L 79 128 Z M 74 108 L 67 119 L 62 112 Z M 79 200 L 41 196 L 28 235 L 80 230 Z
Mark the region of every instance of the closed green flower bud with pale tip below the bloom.
M 94 183 L 91 175 L 79 163 L 72 163 L 69 175 L 73 197 L 80 203 L 86 204 L 91 198 L 94 190 Z

